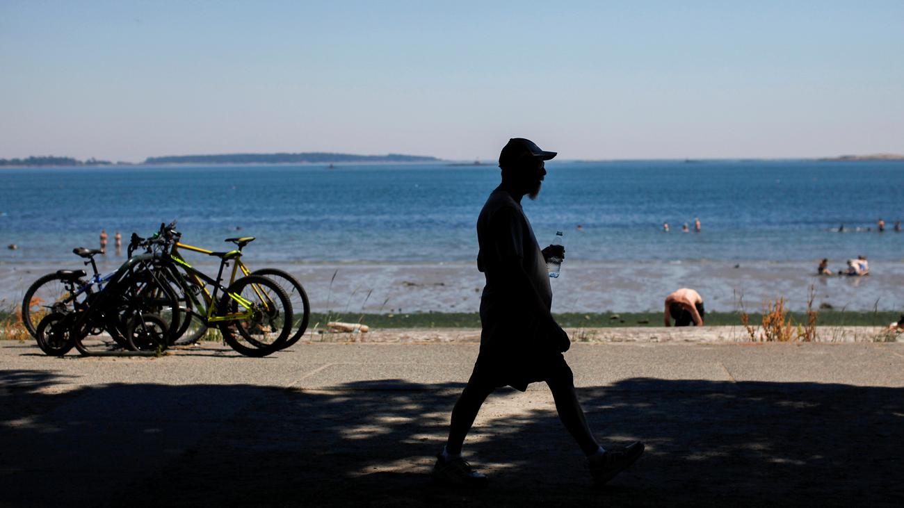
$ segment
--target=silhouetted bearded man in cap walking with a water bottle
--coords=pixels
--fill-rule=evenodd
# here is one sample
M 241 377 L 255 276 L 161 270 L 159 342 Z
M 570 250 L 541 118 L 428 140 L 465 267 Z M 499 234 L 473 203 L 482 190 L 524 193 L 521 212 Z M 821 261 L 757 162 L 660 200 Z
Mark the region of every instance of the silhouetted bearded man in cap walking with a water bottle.
M 588 458 L 594 484 L 605 484 L 644 451 L 639 442 L 610 450 L 599 446 L 561 354 L 570 340 L 550 314 L 546 259 L 563 257 L 565 249 L 551 245 L 541 250 L 521 206 L 525 194 L 535 199 L 540 193 L 544 161 L 555 155 L 518 137 L 510 139 L 499 155 L 502 183 L 490 193 L 477 218 L 477 269 L 486 278 L 480 301 L 480 353 L 452 409 L 446 447 L 431 472 L 439 483 L 486 484 L 486 476 L 462 458 L 461 448 L 486 397 L 506 385 L 524 391 L 528 383 L 546 381 L 562 424 Z

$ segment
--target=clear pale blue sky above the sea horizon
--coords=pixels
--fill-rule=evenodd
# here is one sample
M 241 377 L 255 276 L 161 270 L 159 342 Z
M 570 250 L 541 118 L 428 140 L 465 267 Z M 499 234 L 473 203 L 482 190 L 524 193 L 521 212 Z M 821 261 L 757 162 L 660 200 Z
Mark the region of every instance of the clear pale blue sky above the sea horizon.
M 904 2 L 0 2 L 0 157 L 904 153 Z

